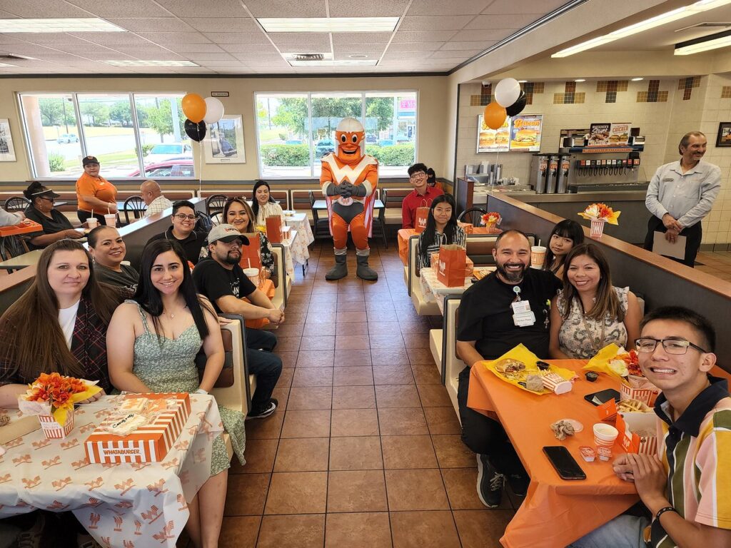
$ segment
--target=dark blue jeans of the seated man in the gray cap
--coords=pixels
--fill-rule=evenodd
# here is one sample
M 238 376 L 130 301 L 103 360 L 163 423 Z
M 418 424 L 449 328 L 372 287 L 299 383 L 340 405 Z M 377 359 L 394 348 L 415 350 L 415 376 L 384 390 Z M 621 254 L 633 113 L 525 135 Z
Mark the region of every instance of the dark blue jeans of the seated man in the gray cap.
M 269 405 L 279 376 L 281 358 L 272 354 L 276 346 L 276 335 L 264 330 L 246 330 L 246 355 L 249 373 L 257 377 L 257 389 L 251 396 L 251 414 L 258 414 Z

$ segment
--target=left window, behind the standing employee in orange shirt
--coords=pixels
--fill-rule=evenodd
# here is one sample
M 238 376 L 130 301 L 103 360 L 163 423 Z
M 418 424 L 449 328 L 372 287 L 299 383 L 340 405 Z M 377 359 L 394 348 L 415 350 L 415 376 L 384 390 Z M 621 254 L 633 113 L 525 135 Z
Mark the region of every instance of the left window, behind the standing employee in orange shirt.
M 102 175 L 110 179 L 143 178 L 143 167 L 148 177 L 156 167 L 165 169 L 154 171 L 155 177 L 193 177 L 182 97 L 20 94 L 34 177 L 77 178 L 84 156 L 96 156 Z

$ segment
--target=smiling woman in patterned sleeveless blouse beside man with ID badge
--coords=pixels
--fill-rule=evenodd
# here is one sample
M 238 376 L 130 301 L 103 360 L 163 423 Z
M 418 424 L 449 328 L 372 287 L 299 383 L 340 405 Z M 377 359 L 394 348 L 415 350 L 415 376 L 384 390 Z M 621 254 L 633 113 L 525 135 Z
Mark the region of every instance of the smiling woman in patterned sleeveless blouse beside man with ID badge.
M 614 287 L 598 246 L 583 243 L 564 260 L 564 289 L 550 308 L 550 357 L 589 359 L 607 344 L 635 348 L 640 303 L 629 287 Z

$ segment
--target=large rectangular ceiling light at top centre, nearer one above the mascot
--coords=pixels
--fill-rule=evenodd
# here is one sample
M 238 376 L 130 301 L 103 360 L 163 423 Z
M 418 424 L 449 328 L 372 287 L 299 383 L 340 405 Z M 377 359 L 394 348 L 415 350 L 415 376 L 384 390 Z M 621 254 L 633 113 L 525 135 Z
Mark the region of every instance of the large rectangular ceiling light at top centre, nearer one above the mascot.
M 267 32 L 393 32 L 398 17 L 262 17 L 257 21 Z

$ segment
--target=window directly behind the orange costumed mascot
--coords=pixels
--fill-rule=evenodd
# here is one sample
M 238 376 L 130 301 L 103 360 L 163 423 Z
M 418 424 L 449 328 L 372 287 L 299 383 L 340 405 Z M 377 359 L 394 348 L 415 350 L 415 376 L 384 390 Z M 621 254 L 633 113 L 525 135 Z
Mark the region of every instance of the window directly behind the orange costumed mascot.
M 256 94 L 261 176 L 319 178 L 346 116 L 366 128 L 366 153 L 378 159 L 380 175 L 405 175 L 416 158 L 416 107 L 413 91 Z

